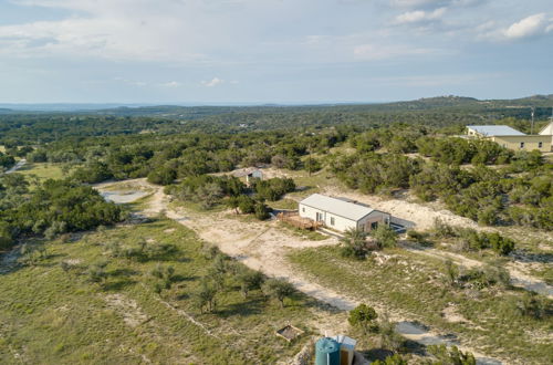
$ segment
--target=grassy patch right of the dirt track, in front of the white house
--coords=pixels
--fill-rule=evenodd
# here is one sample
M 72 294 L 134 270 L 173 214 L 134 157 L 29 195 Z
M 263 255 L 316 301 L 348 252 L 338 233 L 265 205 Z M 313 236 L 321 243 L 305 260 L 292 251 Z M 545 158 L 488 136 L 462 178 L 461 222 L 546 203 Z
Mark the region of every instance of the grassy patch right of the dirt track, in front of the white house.
M 440 260 L 399 249 L 386 253 L 384 262 L 355 261 L 342 258 L 340 248 L 323 247 L 291 252 L 290 260 L 315 282 L 444 333 L 456 333 L 482 353 L 525 364 L 547 363 L 553 357 L 546 335 L 553 321 L 551 316 L 541 321 L 521 316 L 517 303 L 522 290 L 452 290 L 442 283 Z M 451 323 L 442 316 L 450 303 L 466 323 Z

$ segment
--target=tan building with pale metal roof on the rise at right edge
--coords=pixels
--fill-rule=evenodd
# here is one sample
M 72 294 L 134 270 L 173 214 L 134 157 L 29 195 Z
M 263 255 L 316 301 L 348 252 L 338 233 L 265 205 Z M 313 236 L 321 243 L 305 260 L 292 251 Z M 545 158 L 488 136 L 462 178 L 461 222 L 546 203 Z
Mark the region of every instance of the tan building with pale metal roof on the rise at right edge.
M 551 152 L 551 135 L 528 135 L 508 125 L 468 125 L 467 134 L 473 138 L 492 140 L 514 150 Z

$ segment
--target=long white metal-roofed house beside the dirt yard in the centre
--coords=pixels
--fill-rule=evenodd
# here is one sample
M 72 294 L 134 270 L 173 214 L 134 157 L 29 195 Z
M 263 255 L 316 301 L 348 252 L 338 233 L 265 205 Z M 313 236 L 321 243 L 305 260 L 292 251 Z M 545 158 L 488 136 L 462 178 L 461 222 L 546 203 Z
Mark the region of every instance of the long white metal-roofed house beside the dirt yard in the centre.
M 337 231 L 371 231 L 378 225 L 389 226 L 390 215 L 353 200 L 313 194 L 300 201 L 300 217 L 310 218 Z

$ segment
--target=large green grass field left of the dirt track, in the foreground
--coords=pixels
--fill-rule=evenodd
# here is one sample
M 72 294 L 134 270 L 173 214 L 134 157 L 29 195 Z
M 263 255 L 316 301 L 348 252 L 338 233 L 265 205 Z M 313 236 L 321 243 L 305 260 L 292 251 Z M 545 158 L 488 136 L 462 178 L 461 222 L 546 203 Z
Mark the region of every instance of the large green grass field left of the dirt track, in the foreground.
M 139 240 L 174 244 L 177 251 L 150 261 L 105 254 L 112 242 L 125 246 Z M 290 322 L 309 335 L 310 307 L 317 305 L 300 294 L 283 309 L 260 291 L 243 299 L 230 281 L 218 296 L 217 312 L 200 314 L 192 293 L 211 262 L 194 232 L 169 220 L 44 244 L 46 260 L 1 278 L 1 363 L 275 363 L 295 354 L 305 337 L 289 344 L 274 331 Z M 104 260 L 108 260 L 105 284 L 87 281 L 86 268 Z M 62 261 L 81 269 L 65 272 Z M 174 267 L 177 278 L 161 295 L 155 293 L 148 274 L 159 261 Z

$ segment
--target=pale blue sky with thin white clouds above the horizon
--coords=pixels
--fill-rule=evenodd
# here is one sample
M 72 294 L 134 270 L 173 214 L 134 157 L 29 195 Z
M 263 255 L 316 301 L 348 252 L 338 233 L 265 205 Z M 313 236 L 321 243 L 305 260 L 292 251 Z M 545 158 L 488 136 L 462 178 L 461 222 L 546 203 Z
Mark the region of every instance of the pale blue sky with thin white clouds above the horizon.
M 552 0 L 0 0 L 0 103 L 373 103 L 552 86 Z

